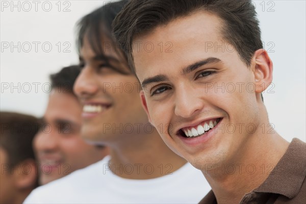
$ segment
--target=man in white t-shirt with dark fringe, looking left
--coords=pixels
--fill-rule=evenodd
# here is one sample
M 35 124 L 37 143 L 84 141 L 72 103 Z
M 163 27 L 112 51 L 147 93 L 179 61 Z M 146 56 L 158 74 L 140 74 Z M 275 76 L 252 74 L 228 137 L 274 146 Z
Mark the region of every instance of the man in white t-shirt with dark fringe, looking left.
M 107 145 L 102 161 L 34 190 L 24 203 L 197 203 L 210 190 L 201 171 L 173 153 L 142 109 L 141 86 L 118 49 L 111 24 L 127 1 L 78 23 L 83 70 L 74 84 L 83 138 Z M 168 124 L 159 131 L 171 131 Z

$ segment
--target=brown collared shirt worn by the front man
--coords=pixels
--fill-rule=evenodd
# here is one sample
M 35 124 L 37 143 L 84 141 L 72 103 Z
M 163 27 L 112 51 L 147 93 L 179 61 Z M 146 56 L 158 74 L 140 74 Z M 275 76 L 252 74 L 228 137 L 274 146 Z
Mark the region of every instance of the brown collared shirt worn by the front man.
M 243 196 L 240 204 L 305 204 L 306 143 L 294 138 L 269 177 Z M 199 204 L 217 204 L 210 191 Z

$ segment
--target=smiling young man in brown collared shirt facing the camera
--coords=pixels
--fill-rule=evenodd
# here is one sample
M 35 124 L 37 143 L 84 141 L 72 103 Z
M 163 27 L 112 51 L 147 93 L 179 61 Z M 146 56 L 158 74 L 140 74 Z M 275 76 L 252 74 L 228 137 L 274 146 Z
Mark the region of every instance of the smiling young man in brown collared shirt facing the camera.
M 305 143 L 267 130 L 256 15 L 247 0 L 132 0 L 113 22 L 150 123 L 212 187 L 200 203 L 306 202 Z

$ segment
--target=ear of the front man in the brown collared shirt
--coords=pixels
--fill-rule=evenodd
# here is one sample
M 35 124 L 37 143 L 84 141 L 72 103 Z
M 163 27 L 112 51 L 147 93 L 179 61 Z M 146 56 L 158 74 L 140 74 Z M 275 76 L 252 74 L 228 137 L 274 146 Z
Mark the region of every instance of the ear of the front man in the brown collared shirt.
M 272 82 L 273 63 L 264 49 L 259 49 L 253 56 L 254 67 L 254 79 L 256 86 L 256 93 L 262 93 L 265 91 Z

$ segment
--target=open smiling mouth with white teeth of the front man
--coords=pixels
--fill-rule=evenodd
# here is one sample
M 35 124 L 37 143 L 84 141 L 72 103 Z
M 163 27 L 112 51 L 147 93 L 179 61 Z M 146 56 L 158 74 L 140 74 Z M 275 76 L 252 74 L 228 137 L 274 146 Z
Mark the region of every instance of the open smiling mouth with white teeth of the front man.
M 222 118 L 204 121 L 193 127 L 186 127 L 179 130 L 179 135 L 186 138 L 196 138 L 208 133 L 211 129 L 219 124 Z

